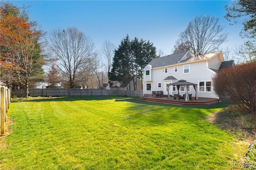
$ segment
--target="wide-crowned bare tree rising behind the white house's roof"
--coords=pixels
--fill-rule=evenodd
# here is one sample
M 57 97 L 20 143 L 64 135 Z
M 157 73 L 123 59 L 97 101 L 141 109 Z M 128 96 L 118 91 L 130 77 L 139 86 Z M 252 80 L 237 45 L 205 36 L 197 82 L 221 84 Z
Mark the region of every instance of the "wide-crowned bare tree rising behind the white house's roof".
M 180 44 L 189 43 L 193 55 L 202 55 L 217 50 L 223 42 L 226 42 L 227 36 L 218 18 L 196 16 L 180 34 L 178 41 Z

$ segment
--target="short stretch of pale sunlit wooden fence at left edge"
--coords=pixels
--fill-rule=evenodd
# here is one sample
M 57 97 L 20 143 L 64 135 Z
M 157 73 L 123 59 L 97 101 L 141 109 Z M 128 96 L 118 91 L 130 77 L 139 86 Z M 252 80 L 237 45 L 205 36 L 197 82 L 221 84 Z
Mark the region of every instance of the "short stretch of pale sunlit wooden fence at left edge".
M 5 123 L 6 123 L 6 113 L 11 103 L 11 91 L 5 86 L 0 85 L 0 136 L 5 134 Z

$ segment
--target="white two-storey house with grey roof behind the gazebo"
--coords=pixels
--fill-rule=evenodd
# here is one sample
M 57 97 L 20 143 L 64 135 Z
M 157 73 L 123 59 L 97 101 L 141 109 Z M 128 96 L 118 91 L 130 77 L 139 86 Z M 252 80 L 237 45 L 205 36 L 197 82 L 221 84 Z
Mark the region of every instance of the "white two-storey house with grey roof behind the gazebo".
M 198 97 L 218 98 L 212 88 L 212 76 L 224 67 L 231 67 L 234 61 L 224 61 L 221 51 L 193 57 L 190 51 L 183 51 L 153 59 L 143 70 L 143 93 L 152 95 L 152 91 L 163 91 L 168 94 L 168 84 L 186 80 L 197 84 Z M 176 86 L 169 88 L 170 95 L 178 93 Z M 185 94 L 184 86 L 180 95 Z M 193 86 L 188 93 L 195 96 Z

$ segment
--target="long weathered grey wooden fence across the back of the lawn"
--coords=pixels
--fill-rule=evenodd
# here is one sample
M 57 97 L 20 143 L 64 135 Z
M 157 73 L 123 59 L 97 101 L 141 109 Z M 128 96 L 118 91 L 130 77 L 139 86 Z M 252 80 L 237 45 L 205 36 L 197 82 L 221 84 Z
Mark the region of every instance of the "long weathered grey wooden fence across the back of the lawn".
M 64 96 L 128 96 L 142 97 L 143 91 L 126 90 L 107 90 L 107 89 L 29 89 L 29 95 L 32 97 L 64 97 Z M 24 89 L 13 89 L 12 96 L 24 97 Z

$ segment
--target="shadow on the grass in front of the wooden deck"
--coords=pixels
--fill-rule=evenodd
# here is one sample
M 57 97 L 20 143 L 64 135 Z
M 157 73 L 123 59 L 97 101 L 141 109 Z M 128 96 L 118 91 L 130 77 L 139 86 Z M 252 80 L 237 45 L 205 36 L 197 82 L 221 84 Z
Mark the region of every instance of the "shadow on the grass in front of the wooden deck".
M 229 103 L 218 103 L 216 105 L 168 105 L 162 103 L 151 103 L 131 99 L 116 99 L 116 102 L 126 101 L 134 103 L 127 109 L 126 122 L 136 124 L 144 122 L 146 126 L 165 125 L 179 121 L 180 123 L 192 123 L 199 125 L 211 114 L 220 109 L 228 107 Z M 140 110 L 140 112 L 131 112 Z M 127 122 L 128 123 L 128 122 Z

